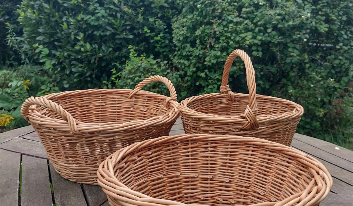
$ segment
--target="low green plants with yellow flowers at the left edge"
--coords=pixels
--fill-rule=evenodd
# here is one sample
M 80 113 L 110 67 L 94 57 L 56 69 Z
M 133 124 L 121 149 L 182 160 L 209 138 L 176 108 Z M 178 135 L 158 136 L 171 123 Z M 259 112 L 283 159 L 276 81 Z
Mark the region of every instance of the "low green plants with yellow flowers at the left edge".
M 46 85 L 50 85 L 47 87 Z M 0 70 L 0 128 L 14 129 L 28 125 L 20 114 L 23 101 L 30 96 L 58 92 L 42 66 L 24 65 Z

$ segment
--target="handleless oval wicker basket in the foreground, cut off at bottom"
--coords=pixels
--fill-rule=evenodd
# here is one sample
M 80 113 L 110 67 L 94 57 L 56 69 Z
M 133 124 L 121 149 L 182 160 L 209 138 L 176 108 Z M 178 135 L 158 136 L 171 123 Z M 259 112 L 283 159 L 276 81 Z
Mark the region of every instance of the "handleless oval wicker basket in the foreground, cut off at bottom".
M 318 205 L 332 178 L 313 157 L 253 137 L 177 135 L 110 155 L 98 184 L 114 206 Z

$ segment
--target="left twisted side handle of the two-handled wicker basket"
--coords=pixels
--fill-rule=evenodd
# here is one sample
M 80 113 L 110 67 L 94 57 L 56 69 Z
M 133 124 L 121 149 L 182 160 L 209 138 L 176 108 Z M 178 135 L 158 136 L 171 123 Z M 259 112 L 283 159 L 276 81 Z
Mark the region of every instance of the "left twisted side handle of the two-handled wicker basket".
M 73 134 L 82 134 L 77 128 L 77 121 L 71 116 L 71 114 L 65 109 L 63 109 L 60 105 L 45 97 L 29 97 L 23 102 L 21 106 L 21 114 L 26 121 L 30 122 L 27 115 L 29 110 L 35 109 L 31 108 L 31 106 L 35 104 L 47 107 L 50 110 L 54 111 L 56 114 L 58 114 L 60 117 L 62 117 L 65 121 L 67 121 L 70 131 Z

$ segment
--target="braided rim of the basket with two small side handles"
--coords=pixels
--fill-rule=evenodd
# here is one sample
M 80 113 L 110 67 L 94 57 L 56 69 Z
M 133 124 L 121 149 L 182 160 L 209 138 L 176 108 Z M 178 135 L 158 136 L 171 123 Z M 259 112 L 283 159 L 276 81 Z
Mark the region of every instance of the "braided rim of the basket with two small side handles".
M 47 98 L 47 99 L 52 99 L 52 98 L 58 98 L 58 97 L 62 97 L 65 96 L 68 93 L 71 93 L 70 95 L 74 95 L 73 92 L 78 92 L 80 94 L 87 94 L 89 95 L 92 91 L 119 91 L 119 92 L 126 92 L 126 97 L 129 92 L 133 91 L 132 89 L 86 89 L 86 90 L 71 90 L 71 91 L 63 91 L 63 92 L 56 92 L 56 93 L 52 93 L 52 94 L 48 94 L 48 95 L 44 95 L 41 97 Z M 168 97 L 165 95 L 161 95 L 161 94 L 157 94 L 155 92 L 151 92 L 151 91 L 145 91 L 145 90 L 140 90 L 138 92 L 136 92 L 136 95 L 158 95 L 159 97 L 161 97 L 161 99 L 167 99 Z M 41 98 L 39 97 L 39 98 Z M 132 97 L 131 99 L 133 99 L 135 97 Z M 178 102 L 174 101 L 174 100 L 170 100 L 169 103 L 172 105 L 172 107 L 169 108 L 169 112 L 166 112 L 164 115 L 160 115 L 160 116 L 154 116 L 148 119 L 142 119 L 142 120 L 134 120 L 134 121 L 118 121 L 118 122 L 80 122 L 77 121 L 77 128 L 84 132 L 84 130 L 90 128 L 90 130 L 92 130 L 92 127 L 94 127 L 95 131 L 91 131 L 90 133 L 94 133 L 94 132 L 106 132 L 106 133 L 110 133 L 113 130 L 116 129 L 121 129 L 121 128 L 126 128 L 126 129 L 143 129 L 145 127 L 149 127 L 146 124 L 151 124 L 151 125 L 160 125 L 160 124 L 164 124 L 165 122 L 168 122 L 172 119 L 175 118 L 175 116 L 179 116 L 179 110 L 178 108 Z M 33 108 L 37 108 L 38 105 L 33 105 Z M 60 127 L 60 125 L 66 125 L 67 121 L 65 120 L 58 120 L 58 119 L 54 119 L 51 118 L 49 116 L 46 115 L 42 115 L 40 114 L 37 110 L 31 110 L 30 112 L 28 112 L 28 116 L 29 117 L 35 117 L 35 118 L 46 118 L 46 121 L 48 122 L 53 122 L 56 123 L 56 125 L 53 125 L 53 128 L 55 128 L 56 130 L 61 130 L 61 131 L 68 131 L 68 128 L 62 128 Z

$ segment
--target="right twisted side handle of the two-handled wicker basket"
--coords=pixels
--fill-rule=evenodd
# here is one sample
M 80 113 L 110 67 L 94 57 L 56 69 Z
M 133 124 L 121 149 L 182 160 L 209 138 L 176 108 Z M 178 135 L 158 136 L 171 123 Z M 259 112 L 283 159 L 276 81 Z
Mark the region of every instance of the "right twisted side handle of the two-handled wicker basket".
M 130 94 L 127 96 L 127 98 L 131 98 L 134 94 L 136 94 L 138 91 L 140 91 L 145 85 L 151 83 L 151 82 L 163 82 L 165 85 L 167 85 L 168 89 L 169 89 L 169 93 L 170 93 L 170 97 L 168 97 L 166 99 L 166 104 L 165 107 L 169 108 L 169 101 L 175 101 L 176 105 L 178 104 L 177 102 L 177 92 L 175 91 L 175 88 L 173 86 L 173 83 L 170 82 L 169 79 L 167 79 L 166 77 L 162 77 L 159 75 L 155 75 L 155 76 L 151 76 L 148 78 L 145 78 L 142 82 L 138 83 L 135 86 L 135 89 L 133 89 Z

